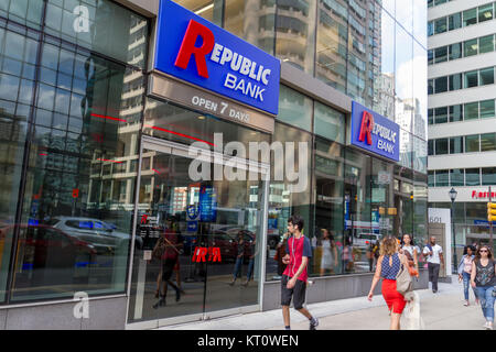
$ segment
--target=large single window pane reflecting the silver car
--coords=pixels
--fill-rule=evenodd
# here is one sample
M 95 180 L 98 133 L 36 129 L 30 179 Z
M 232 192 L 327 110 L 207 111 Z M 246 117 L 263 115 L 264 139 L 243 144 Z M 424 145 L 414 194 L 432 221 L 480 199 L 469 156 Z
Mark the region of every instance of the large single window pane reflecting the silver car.
M 142 76 L 52 44 L 41 64 L 57 78 L 39 84 L 11 300 L 123 293 L 136 174 L 116 179 L 112 166 L 121 173 L 122 157 L 137 156 L 139 119 L 122 91 L 129 77 L 142 87 Z

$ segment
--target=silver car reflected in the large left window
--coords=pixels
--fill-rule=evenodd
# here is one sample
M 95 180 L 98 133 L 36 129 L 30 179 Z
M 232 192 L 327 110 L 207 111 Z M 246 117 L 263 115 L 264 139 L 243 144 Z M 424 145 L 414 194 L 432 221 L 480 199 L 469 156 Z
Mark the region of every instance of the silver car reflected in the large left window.
M 131 235 L 117 231 L 117 227 L 91 218 L 55 217 L 48 221 L 55 229 L 71 233 L 72 235 L 95 245 L 99 254 L 112 253 L 116 250 L 127 249 Z M 143 239 L 136 238 L 136 248 L 141 249 Z

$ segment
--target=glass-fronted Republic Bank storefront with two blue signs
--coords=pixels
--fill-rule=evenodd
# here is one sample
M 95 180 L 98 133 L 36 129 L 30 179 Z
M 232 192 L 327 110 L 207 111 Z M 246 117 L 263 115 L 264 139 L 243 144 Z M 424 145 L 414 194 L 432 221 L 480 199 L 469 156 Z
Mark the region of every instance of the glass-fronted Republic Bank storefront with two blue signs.
M 423 241 L 427 143 L 395 113 L 269 55 L 268 37 L 235 36 L 217 19 L 226 4 L 126 3 L 0 0 L 0 327 L 150 329 L 278 308 L 293 213 L 314 250 L 308 302 L 366 295 L 381 237 Z M 183 238 L 183 294 L 153 307 L 166 227 Z

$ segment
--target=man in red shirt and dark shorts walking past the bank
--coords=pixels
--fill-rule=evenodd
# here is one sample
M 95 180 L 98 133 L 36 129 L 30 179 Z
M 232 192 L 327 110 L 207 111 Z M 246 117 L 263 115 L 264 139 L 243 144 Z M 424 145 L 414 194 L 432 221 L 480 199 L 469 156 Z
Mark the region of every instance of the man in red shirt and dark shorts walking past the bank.
M 291 330 L 289 308 L 293 297 L 294 309 L 309 319 L 310 330 L 315 330 L 319 326 L 319 320 L 312 317 L 306 308 L 303 308 L 309 277 L 308 264 L 309 258 L 312 257 L 310 240 L 301 233 L 303 226 L 303 219 L 299 216 L 292 216 L 288 220 L 288 231 L 291 237 L 288 239 L 287 254 L 283 257 L 283 262 L 288 266 L 281 279 L 281 306 L 285 330 Z

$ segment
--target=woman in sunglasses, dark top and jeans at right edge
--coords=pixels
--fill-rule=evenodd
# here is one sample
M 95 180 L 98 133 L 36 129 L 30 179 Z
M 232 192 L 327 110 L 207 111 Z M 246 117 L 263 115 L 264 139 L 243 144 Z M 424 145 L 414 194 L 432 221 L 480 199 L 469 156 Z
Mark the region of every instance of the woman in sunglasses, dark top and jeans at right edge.
M 493 330 L 494 323 L 495 271 L 496 262 L 489 246 L 481 245 L 472 263 L 471 285 L 476 289 L 477 297 L 481 300 L 481 308 L 484 318 L 486 318 L 484 324 L 486 330 Z

